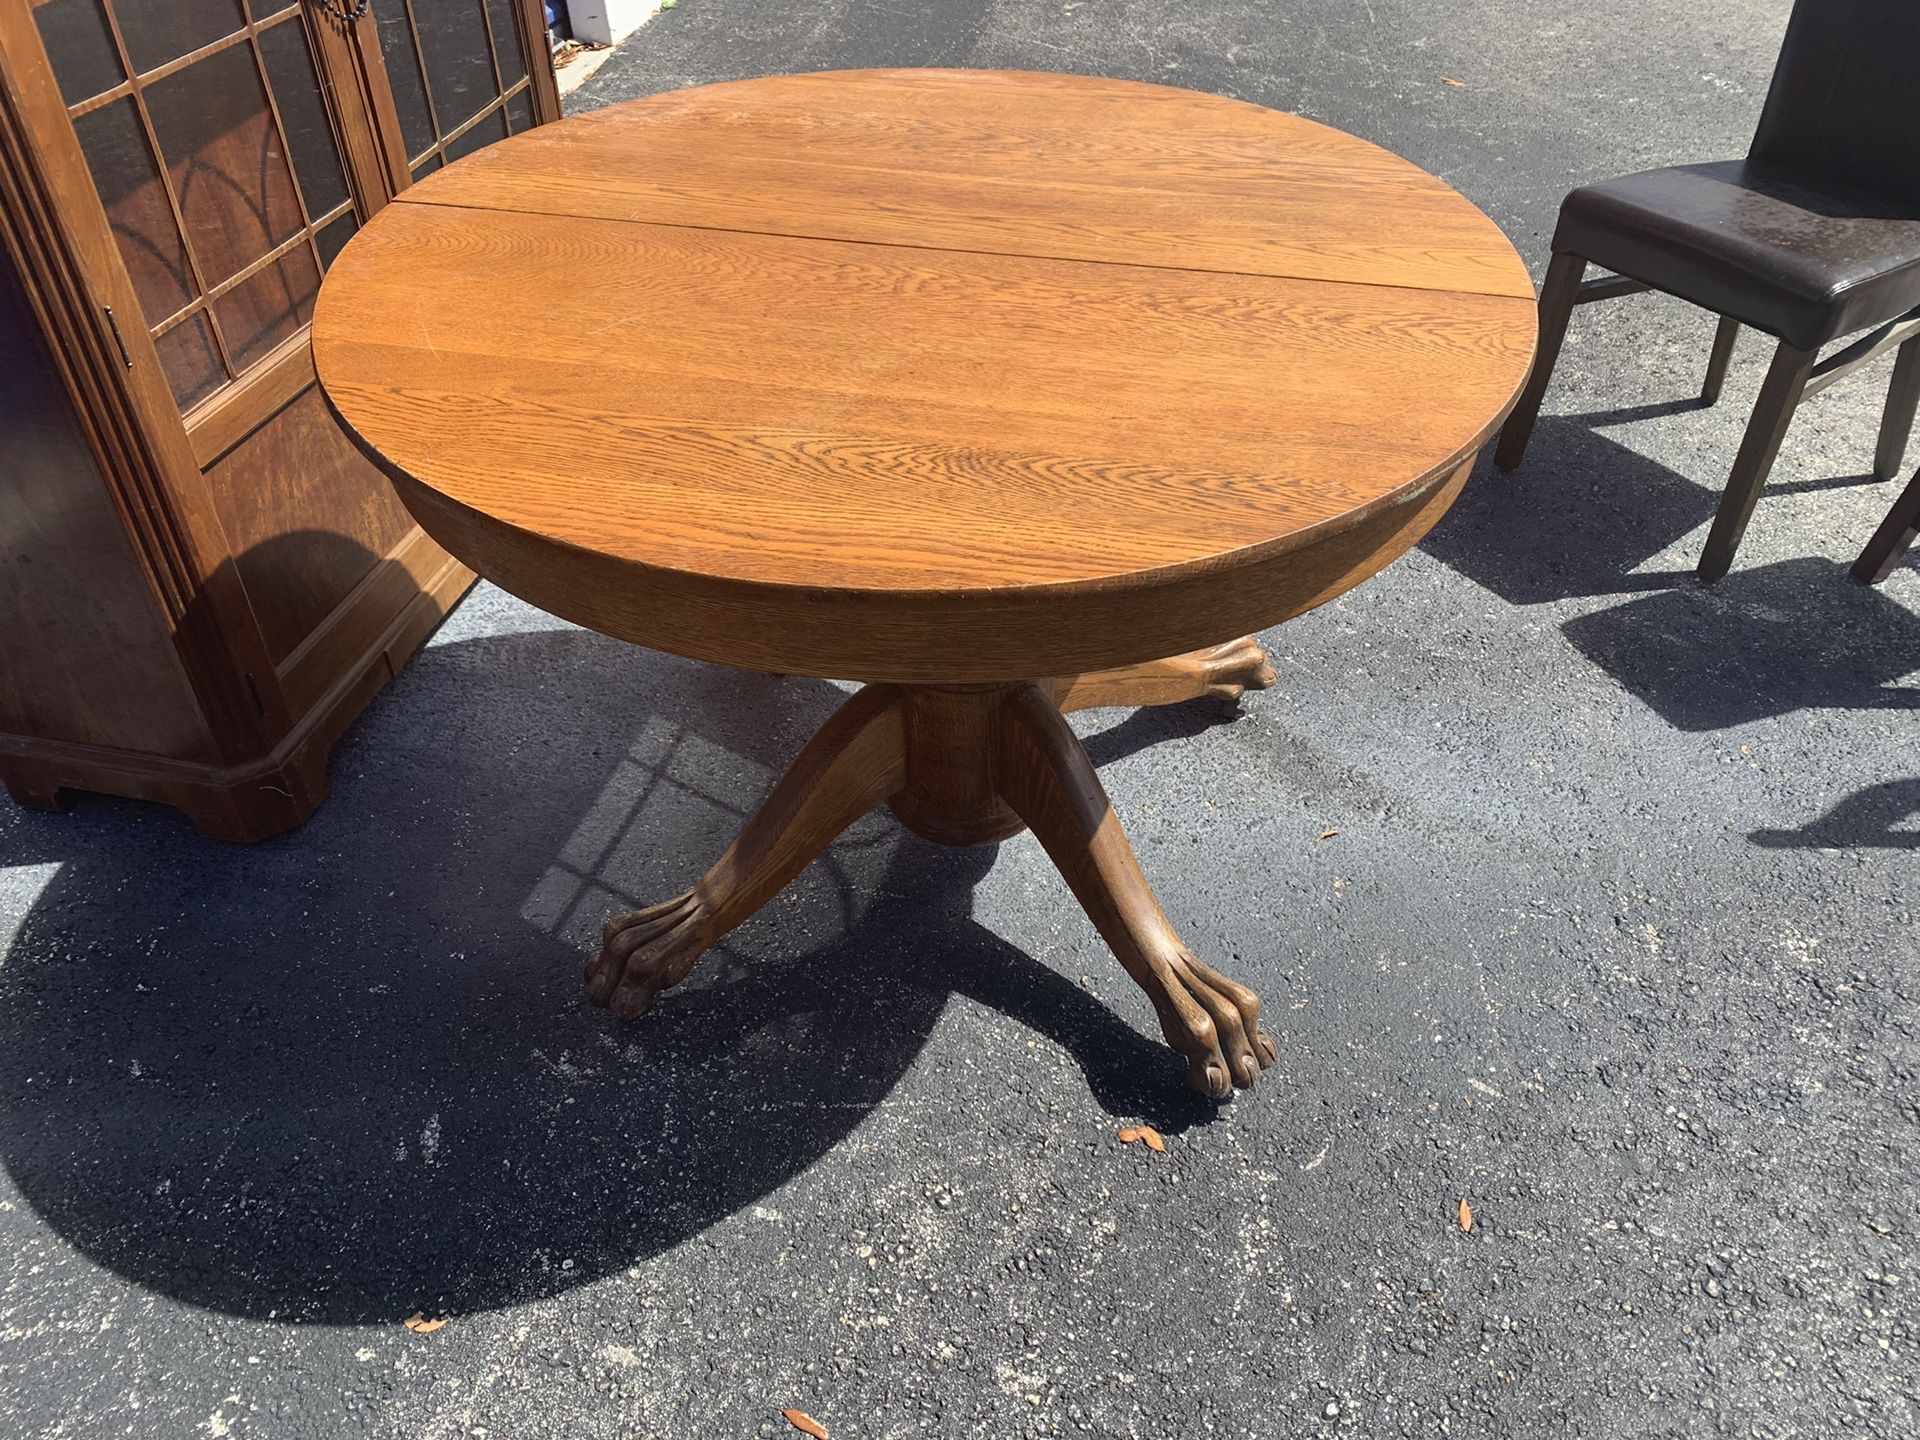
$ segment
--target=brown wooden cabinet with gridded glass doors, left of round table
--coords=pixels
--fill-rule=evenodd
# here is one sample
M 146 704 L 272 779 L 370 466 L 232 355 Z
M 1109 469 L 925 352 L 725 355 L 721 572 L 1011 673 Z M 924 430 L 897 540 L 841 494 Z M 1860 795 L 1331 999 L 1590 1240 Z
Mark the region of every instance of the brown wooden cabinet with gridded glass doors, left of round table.
M 0 0 L 0 778 L 261 839 L 472 576 L 313 382 L 326 263 L 559 115 L 540 0 Z

